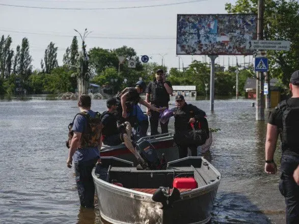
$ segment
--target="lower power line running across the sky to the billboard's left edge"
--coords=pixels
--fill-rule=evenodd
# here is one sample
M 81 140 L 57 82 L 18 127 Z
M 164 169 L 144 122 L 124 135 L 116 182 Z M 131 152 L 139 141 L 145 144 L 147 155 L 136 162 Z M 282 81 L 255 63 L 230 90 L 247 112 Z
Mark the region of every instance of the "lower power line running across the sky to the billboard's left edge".
M 43 33 L 33 33 L 33 32 L 21 32 L 21 31 L 10 31 L 10 30 L 2 30 L 3 32 L 11 32 L 11 33 L 20 33 L 20 34 L 33 34 L 33 35 L 44 35 L 44 36 L 59 36 L 59 37 L 74 37 L 76 35 L 64 35 L 64 34 L 43 34 Z M 131 39 L 131 40 L 175 40 L 176 37 L 102 37 L 102 36 L 89 36 L 88 38 L 94 39 Z

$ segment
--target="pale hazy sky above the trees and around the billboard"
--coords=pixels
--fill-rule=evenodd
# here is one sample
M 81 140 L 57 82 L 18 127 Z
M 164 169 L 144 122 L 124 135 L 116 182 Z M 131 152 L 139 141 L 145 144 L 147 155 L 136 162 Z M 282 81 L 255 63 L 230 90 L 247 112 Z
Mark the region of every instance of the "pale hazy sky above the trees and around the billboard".
M 176 55 L 177 14 L 226 14 L 225 3 L 236 0 L 0 0 L 0 35 L 12 37 L 12 48 L 23 37 L 30 43 L 33 68 L 40 69 L 41 59 L 50 42 L 58 47 L 58 64 L 77 36 L 87 28 L 87 49 L 115 49 L 126 45 L 137 55 L 148 55 L 149 62 L 168 68 L 187 67 L 192 60 L 206 61 L 203 55 Z M 236 57 L 220 56 L 216 63 L 235 64 Z M 250 57 L 240 57 L 250 62 Z M 180 63 L 180 64 L 179 64 Z

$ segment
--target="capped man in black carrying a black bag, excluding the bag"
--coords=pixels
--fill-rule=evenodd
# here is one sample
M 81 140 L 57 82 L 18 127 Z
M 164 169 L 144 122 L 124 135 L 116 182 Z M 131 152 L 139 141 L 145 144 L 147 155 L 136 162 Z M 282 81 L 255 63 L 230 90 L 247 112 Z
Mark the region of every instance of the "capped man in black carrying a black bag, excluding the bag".
M 179 148 L 179 157 L 186 157 L 188 148 L 191 150 L 192 156 L 197 156 L 198 145 L 193 143 L 193 136 L 190 135 L 191 123 L 194 124 L 199 117 L 206 116 L 206 113 L 192 104 L 187 104 L 183 95 L 177 95 L 175 101 L 177 107 L 172 109 L 175 118 L 173 138 Z

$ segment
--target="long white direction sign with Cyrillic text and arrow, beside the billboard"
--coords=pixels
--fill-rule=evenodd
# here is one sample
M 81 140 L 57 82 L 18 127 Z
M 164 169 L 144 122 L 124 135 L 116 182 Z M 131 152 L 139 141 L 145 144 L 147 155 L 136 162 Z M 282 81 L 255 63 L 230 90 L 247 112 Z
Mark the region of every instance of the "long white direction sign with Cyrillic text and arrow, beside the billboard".
M 289 50 L 290 41 L 285 40 L 249 40 L 246 49 L 250 50 Z

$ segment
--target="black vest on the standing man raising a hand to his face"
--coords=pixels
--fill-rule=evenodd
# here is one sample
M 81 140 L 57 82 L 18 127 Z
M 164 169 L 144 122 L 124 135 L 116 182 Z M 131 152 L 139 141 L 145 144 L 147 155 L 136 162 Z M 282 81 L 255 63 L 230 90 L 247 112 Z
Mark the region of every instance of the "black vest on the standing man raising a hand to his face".
M 168 104 L 170 100 L 169 94 L 164 85 L 157 81 L 151 82 L 151 103 L 153 104 Z

